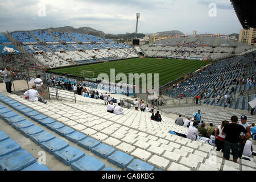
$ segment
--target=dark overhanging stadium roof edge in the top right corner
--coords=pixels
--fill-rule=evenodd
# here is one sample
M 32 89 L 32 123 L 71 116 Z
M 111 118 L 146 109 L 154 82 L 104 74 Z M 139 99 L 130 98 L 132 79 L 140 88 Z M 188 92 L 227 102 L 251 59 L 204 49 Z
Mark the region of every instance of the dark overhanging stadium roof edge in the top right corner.
M 256 1 L 230 0 L 243 28 L 256 28 Z

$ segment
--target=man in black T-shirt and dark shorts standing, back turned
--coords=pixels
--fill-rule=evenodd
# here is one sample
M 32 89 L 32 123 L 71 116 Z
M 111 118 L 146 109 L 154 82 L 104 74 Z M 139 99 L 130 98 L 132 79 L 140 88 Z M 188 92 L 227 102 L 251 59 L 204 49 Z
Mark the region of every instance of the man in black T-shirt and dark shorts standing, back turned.
M 226 135 L 225 137 L 225 141 L 224 141 L 224 158 L 226 160 L 229 160 L 230 158 L 230 150 L 232 150 L 232 154 L 233 154 L 233 162 L 237 162 L 238 159 L 238 143 L 240 141 L 240 134 L 245 133 L 246 134 L 246 140 L 250 138 L 250 133 L 247 132 L 247 130 L 241 126 L 238 125 L 238 118 L 236 115 L 233 115 L 231 117 L 231 122 L 230 124 L 226 125 L 224 127 L 224 129 L 222 130 L 222 135 Z M 246 140 L 244 140 L 244 144 L 246 142 Z

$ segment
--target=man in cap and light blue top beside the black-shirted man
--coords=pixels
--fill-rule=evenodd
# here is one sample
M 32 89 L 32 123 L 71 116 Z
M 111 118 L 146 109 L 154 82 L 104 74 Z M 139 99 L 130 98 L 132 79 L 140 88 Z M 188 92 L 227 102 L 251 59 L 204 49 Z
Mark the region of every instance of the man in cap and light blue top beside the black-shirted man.
M 246 121 L 247 121 L 246 115 L 242 115 L 241 116 L 241 121 L 239 122 L 239 125 L 243 126 L 248 133 L 251 133 L 251 127 L 248 123 L 246 123 Z M 240 141 L 239 141 L 239 144 L 238 144 L 238 147 L 239 147 L 238 158 L 240 158 L 240 159 L 242 158 L 243 148 L 245 147 L 245 143 L 246 143 L 245 134 L 241 133 L 240 134 Z

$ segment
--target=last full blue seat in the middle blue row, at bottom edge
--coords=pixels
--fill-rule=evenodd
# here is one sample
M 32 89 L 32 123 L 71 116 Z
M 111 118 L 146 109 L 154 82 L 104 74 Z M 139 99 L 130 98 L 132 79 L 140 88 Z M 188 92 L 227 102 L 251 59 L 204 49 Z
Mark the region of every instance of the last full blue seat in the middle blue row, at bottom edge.
M 104 167 L 104 163 L 90 155 L 86 155 L 84 158 L 71 164 L 71 168 L 75 171 L 100 171 Z

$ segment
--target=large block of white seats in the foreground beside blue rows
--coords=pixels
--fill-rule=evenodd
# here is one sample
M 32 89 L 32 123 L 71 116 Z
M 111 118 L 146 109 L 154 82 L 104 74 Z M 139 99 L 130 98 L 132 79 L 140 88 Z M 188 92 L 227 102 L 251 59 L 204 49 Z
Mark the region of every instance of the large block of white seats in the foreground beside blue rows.
M 212 146 L 209 144 L 202 145 L 200 142 L 171 134 L 160 134 L 160 129 L 154 132 L 150 129 L 150 125 L 145 125 L 146 122 L 142 122 L 141 126 L 135 125 L 135 123 L 138 124 L 139 121 L 142 121 L 144 113 L 141 115 L 141 112 L 137 111 L 137 115 L 135 115 L 134 110 L 130 110 L 130 114 L 126 110 L 127 114 L 125 116 L 112 115 L 102 110 L 103 107 L 105 109 L 105 106 L 101 107 L 95 104 L 71 105 L 61 104 L 61 102 L 49 102 L 49 104 L 43 105 L 40 102 L 31 104 L 31 102 L 24 101 L 23 98 L 15 95 L 11 97 L 56 121 L 63 122 L 90 138 L 101 141 L 156 168 L 163 170 L 212 169 L 207 164 L 209 161 L 207 159 L 211 156 L 209 154 L 215 152 Z M 65 109 L 59 110 L 60 108 Z M 88 111 L 87 108 L 92 111 Z M 141 117 L 138 117 L 139 115 Z M 134 116 L 134 122 L 130 122 L 131 116 Z M 164 120 L 163 123 L 165 123 Z M 154 123 L 150 122 L 151 125 Z M 156 125 L 160 126 L 161 124 L 158 123 Z M 147 129 L 146 132 L 145 129 Z M 94 152 L 93 154 L 98 154 L 97 151 Z M 222 168 L 217 168 L 217 166 L 222 166 L 221 159 L 221 163 L 214 166 L 217 170 L 226 169 L 227 166 L 232 166 L 232 163 L 228 164 L 225 161 Z M 238 164 L 238 166 L 238 169 L 246 167 L 243 164 Z

